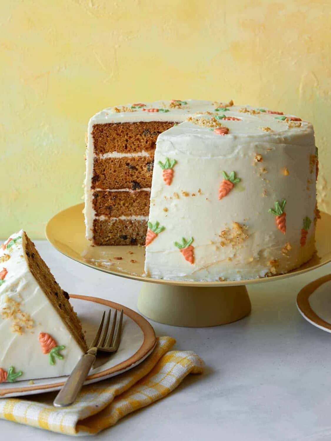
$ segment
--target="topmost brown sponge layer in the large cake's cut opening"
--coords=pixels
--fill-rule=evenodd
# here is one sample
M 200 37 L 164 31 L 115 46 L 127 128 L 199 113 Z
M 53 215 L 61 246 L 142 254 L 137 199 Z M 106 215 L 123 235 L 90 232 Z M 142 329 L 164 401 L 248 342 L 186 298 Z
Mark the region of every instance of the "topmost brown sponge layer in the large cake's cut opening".
M 169 121 L 94 124 L 94 153 L 136 153 L 141 150 L 154 150 L 158 135 L 173 125 L 174 123 Z

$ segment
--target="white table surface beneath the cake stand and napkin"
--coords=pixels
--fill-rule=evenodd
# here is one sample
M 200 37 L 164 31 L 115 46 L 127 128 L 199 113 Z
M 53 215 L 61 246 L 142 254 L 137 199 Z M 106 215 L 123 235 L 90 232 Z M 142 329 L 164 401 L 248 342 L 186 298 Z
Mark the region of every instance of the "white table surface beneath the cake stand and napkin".
M 36 246 L 67 292 L 137 310 L 140 282 L 90 269 L 46 241 Z M 249 285 L 252 313 L 214 328 L 152 322 L 156 335 L 197 352 L 205 374 L 191 375 L 165 399 L 97 435 L 101 441 L 320 441 L 331 439 L 331 339 L 299 314 L 295 299 L 331 264 L 267 284 Z M 0 420 L 0 440 L 58 440 L 67 435 Z M 80 439 L 91 437 L 80 437 Z

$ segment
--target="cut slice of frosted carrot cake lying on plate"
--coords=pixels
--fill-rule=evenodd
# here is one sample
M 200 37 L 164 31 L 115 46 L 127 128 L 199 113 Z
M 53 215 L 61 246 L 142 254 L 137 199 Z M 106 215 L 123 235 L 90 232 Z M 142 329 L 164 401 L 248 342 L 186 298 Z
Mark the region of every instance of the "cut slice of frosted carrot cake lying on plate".
M 0 247 L 0 382 L 68 375 L 86 351 L 82 326 L 23 230 Z

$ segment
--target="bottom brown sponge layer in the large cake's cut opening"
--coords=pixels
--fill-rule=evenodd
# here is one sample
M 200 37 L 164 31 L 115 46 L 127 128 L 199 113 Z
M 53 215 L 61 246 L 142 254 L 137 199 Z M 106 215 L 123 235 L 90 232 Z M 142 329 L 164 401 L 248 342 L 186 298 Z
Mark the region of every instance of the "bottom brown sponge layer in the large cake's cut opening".
M 95 245 L 145 245 L 147 217 L 143 219 L 94 219 Z

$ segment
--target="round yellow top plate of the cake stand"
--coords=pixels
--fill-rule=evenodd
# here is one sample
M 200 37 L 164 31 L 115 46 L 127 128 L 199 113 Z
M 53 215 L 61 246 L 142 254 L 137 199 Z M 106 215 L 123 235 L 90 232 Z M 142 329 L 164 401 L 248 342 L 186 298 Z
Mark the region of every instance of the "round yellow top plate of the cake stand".
M 195 287 L 247 285 L 296 276 L 331 262 L 331 215 L 321 213 L 321 219 L 317 221 L 316 225 L 316 254 L 305 265 L 290 273 L 260 279 L 223 282 L 152 279 L 144 276 L 145 247 L 123 245 L 97 247 L 89 243 L 85 237 L 83 209 L 84 204 L 78 204 L 52 217 L 45 228 L 48 241 L 61 253 L 77 262 L 105 273 L 142 282 Z

